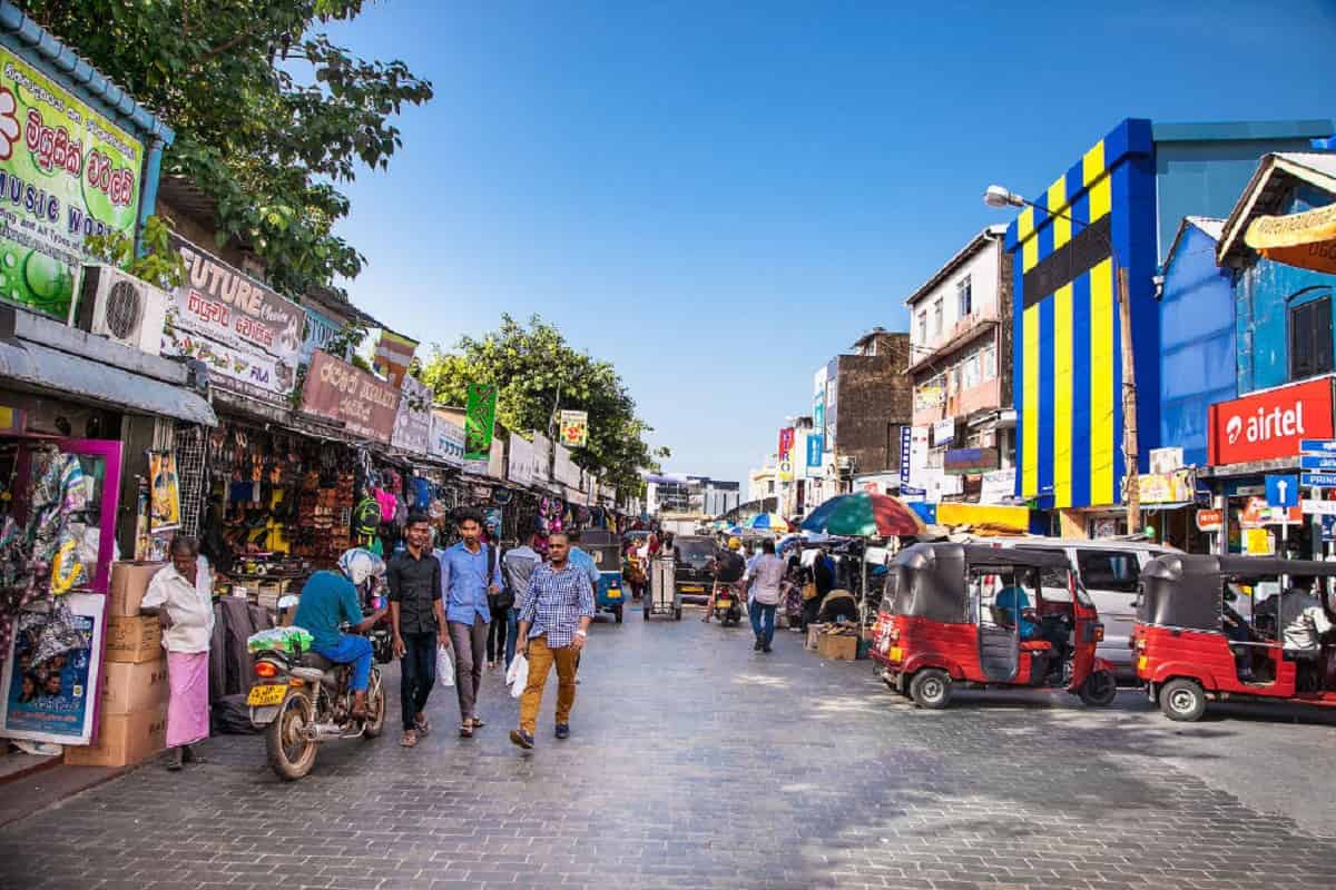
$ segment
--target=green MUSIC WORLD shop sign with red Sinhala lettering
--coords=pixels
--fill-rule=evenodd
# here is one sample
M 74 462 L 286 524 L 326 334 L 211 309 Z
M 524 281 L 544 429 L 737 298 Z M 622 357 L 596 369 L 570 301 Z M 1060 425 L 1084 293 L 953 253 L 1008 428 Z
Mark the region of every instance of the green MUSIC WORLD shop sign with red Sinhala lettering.
M 144 147 L 0 47 L 0 299 L 69 316 L 88 235 L 135 236 Z

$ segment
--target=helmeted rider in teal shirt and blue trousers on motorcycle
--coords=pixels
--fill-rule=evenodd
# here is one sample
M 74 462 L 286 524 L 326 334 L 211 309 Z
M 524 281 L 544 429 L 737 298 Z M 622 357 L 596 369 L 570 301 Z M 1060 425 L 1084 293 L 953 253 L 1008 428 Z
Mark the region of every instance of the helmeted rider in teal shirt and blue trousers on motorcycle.
M 371 681 L 371 642 L 362 636 L 385 615 L 385 608 L 362 618 L 362 595 L 385 583 L 385 560 L 370 550 L 354 547 L 338 560 L 338 572 L 318 571 L 302 588 L 293 623 L 311 634 L 311 651 L 337 664 L 353 664 L 353 717 L 366 719 L 366 687 Z M 350 634 L 341 630 L 351 624 Z

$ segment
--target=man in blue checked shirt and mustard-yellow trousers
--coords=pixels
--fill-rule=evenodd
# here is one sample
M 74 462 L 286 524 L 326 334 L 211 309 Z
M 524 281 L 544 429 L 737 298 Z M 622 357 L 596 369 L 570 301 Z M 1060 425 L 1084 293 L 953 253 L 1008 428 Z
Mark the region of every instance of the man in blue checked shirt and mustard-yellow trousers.
M 570 563 L 570 542 L 556 532 L 548 539 L 548 562 L 533 570 L 520 611 L 520 652 L 529 659 L 529 677 L 520 698 L 520 726 L 510 741 L 533 747 L 542 689 L 557 667 L 556 737 L 570 737 L 570 709 L 576 703 L 576 663 L 593 620 L 593 590 L 588 576 Z

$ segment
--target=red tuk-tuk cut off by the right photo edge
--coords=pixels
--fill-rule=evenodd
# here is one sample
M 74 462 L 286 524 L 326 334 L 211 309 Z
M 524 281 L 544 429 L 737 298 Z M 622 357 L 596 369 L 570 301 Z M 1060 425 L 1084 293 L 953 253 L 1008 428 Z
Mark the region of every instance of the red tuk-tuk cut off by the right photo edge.
M 1336 705 L 1336 644 L 1321 634 L 1333 578 L 1328 562 L 1153 559 L 1132 632 L 1137 678 L 1173 721 L 1200 719 L 1212 699 Z

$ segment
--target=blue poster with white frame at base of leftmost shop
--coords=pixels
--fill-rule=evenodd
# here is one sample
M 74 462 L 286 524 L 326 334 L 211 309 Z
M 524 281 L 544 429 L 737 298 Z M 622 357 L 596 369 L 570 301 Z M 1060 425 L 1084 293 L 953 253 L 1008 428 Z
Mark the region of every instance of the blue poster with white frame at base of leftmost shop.
M 0 689 L 0 735 L 55 745 L 88 745 L 94 737 L 100 693 L 107 598 L 69 594 L 73 612 L 72 648 L 36 660 L 44 646 L 39 615 L 23 612 L 5 652 Z

